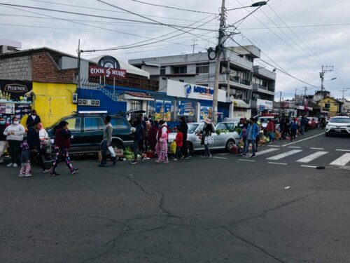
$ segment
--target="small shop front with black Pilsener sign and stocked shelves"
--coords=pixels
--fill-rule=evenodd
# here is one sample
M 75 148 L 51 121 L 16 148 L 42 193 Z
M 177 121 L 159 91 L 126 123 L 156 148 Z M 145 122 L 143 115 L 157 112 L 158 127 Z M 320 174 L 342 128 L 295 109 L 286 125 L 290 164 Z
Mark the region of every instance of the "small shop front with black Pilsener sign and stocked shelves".
M 13 117 L 23 123 L 23 117 L 31 112 L 31 104 L 31 81 L 0 80 L 0 116 L 6 123 L 11 123 Z

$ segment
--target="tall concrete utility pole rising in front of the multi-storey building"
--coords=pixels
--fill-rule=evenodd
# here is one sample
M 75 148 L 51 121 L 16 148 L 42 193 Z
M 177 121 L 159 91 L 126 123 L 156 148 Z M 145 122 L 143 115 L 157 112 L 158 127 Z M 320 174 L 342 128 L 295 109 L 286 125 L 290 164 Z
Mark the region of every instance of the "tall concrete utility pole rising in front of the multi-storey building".
M 216 124 L 218 121 L 218 79 L 220 74 L 220 60 L 223 51 L 223 27 L 225 25 L 225 0 L 221 3 L 220 27 L 218 32 L 218 46 L 216 46 L 216 64 L 215 64 L 215 79 L 214 79 L 214 95 L 213 95 L 213 121 Z

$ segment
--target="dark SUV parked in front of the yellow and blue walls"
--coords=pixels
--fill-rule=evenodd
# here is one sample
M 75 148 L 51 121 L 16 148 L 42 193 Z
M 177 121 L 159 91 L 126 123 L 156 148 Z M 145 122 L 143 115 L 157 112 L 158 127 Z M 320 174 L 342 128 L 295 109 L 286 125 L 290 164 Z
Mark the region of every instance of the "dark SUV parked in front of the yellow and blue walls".
M 48 135 L 52 142 L 55 136 L 53 128 L 60 121 L 68 122 L 68 128 L 71 131 L 71 154 L 96 153 L 99 151 L 99 144 L 102 141 L 104 130 L 104 116 L 106 114 L 77 113 L 63 117 L 57 123 L 47 128 Z M 111 124 L 113 126 L 112 146 L 123 148 L 132 145 L 130 135 L 130 123 L 125 117 L 111 114 Z

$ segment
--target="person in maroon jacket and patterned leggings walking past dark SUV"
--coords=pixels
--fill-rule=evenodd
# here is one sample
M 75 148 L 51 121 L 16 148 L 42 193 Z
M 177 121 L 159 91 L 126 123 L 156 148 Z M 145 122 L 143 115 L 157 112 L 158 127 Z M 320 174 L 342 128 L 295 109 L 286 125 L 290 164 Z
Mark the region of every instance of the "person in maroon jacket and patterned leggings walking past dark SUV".
M 50 175 L 56 176 L 56 168 L 59 163 L 59 157 L 63 156 L 66 161 L 66 166 L 71 174 L 78 173 L 79 169 L 74 169 L 71 164 L 71 158 L 69 157 L 68 149 L 71 147 L 71 131 L 68 129 L 66 121 L 61 121 L 57 127 L 54 128 L 53 133 L 55 135 L 55 160 L 52 163 L 52 170 Z

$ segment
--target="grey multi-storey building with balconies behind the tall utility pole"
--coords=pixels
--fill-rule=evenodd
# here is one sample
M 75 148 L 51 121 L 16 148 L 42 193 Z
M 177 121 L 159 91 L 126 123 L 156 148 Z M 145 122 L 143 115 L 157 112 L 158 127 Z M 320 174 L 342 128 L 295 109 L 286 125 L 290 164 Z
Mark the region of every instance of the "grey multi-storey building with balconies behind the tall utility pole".
M 226 48 L 221 57 L 219 88 L 226 91 L 227 102 L 233 104 L 230 116 L 237 112 L 239 104 L 248 105 L 251 114 L 266 109 L 267 105 L 271 105 L 271 109 L 273 107 L 276 74 L 254 66 L 255 58 L 260 58 L 260 50 L 255 46 Z M 209 60 L 207 53 L 139 58 L 129 60 L 129 63 L 149 72 L 151 79 L 159 81 L 162 92 L 167 91 L 169 79 L 214 86 L 216 60 Z M 244 103 L 237 103 L 237 100 Z

